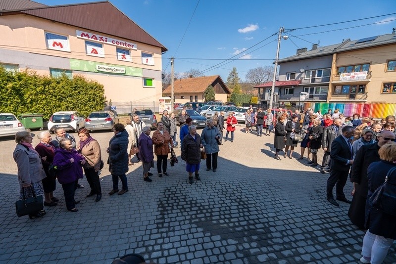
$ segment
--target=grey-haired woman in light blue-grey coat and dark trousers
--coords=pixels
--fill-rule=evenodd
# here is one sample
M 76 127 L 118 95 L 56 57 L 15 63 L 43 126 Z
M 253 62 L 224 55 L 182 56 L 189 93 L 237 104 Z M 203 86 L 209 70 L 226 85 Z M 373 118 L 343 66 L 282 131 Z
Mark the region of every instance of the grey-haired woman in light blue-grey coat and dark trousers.
M 206 153 L 206 171 L 213 168 L 213 172 L 217 170 L 217 156 L 219 153 L 219 144 L 221 134 L 214 126 L 212 120 L 206 121 L 206 127 L 201 133 L 201 143 L 205 147 Z

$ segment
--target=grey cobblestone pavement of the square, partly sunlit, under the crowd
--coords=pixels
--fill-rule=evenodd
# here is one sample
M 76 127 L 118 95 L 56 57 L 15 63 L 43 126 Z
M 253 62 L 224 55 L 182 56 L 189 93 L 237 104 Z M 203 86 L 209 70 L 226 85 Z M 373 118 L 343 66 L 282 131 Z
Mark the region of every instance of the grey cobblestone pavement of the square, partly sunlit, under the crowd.
M 86 187 L 76 191 L 79 212 L 68 212 L 58 183 L 58 206 L 35 220 L 16 217 L 15 142 L 1 138 L 0 263 L 111 263 L 129 253 L 159 264 L 358 263 L 364 232 L 350 223 L 348 204 L 326 201 L 328 174 L 305 160 L 273 159 L 272 135 L 242 127 L 235 133 L 233 143 L 223 141 L 217 172 L 206 172 L 202 161 L 201 181 L 192 185 L 179 158 L 169 176 L 159 178 L 154 169 L 151 183 L 143 181 L 140 164 L 130 166 L 129 192 L 108 196 L 105 167 L 101 201 L 85 197 L 84 178 Z M 106 160 L 112 134 L 92 135 Z M 351 188 L 347 182 L 347 194 Z M 395 245 L 385 263 L 396 263 Z

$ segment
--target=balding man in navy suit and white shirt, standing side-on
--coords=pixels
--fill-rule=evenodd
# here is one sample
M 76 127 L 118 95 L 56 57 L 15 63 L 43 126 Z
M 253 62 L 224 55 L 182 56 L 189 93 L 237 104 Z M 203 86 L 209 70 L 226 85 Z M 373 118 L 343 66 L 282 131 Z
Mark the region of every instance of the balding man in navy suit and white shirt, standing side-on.
M 353 147 L 350 138 L 353 136 L 355 129 L 346 126 L 341 131 L 341 135 L 334 139 L 330 151 L 330 176 L 327 179 L 326 191 L 327 200 L 335 205 L 340 206 L 333 196 L 333 188 L 336 185 L 336 199 L 350 204 L 344 194 L 344 186 L 347 183 L 350 166 L 353 164 Z

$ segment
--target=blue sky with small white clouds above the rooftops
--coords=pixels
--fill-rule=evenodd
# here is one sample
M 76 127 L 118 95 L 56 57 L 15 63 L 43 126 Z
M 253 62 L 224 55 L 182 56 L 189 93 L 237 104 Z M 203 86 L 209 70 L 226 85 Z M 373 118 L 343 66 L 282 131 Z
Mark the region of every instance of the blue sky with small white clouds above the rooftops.
M 36 1 L 48 5 L 92 2 L 91 0 Z M 273 65 L 277 35 L 270 36 L 277 33 L 282 26 L 285 29 L 298 29 L 396 13 L 395 0 L 360 0 L 358 2 L 110 0 L 110 2 L 168 49 L 162 55 L 163 70 L 170 72 L 169 58 L 175 57 L 175 72 L 181 73 L 194 68 L 204 71 L 206 76 L 220 75 L 224 81 L 233 67 L 237 68 L 239 77 L 245 80 L 247 70 L 258 66 Z M 190 19 L 191 23 L 187 28 Z M 384 20 L 394 21 L 357 27 Z M 394 27 L 396 27 L 396 14 L 338 25 L 294 30 L 286 33 L 289 40 L 281 41 L 280 58 L 296 54 L 297 48 L 311 49 L 312 43 L 325 46 L 341 43 L 343 39 L 357 40 L 390 34 Z M 331 31 L 344 28 L 349 29 Z M 313 34 L 318 32 L 324 33 Z M 293 37 L 304 34 L 311 35 L 300 36 L 300 39 Z M 180 43 L 183 35 L 183 41 Z M 257 45 L 248 49 L 255 44 Z M 254 49 L 257 50 L 251 52 Z M 227 64 L 207 70 L 235 54 L 239 55 L 227 61 Z M 245 60 L 235 60 L 242 56 Z

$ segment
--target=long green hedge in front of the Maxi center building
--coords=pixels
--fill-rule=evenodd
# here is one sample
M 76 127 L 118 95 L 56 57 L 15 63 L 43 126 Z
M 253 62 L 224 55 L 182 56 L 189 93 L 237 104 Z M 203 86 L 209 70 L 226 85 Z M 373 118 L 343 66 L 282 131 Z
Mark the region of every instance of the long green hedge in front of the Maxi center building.
M 11 72 L 0 67 L 0 112 L 41 113 L 45 119 L 56 111 L 88 116 L 103 110 L 105 100 L 103 85 L 80 75 L 52 78 L 29 69 Z

